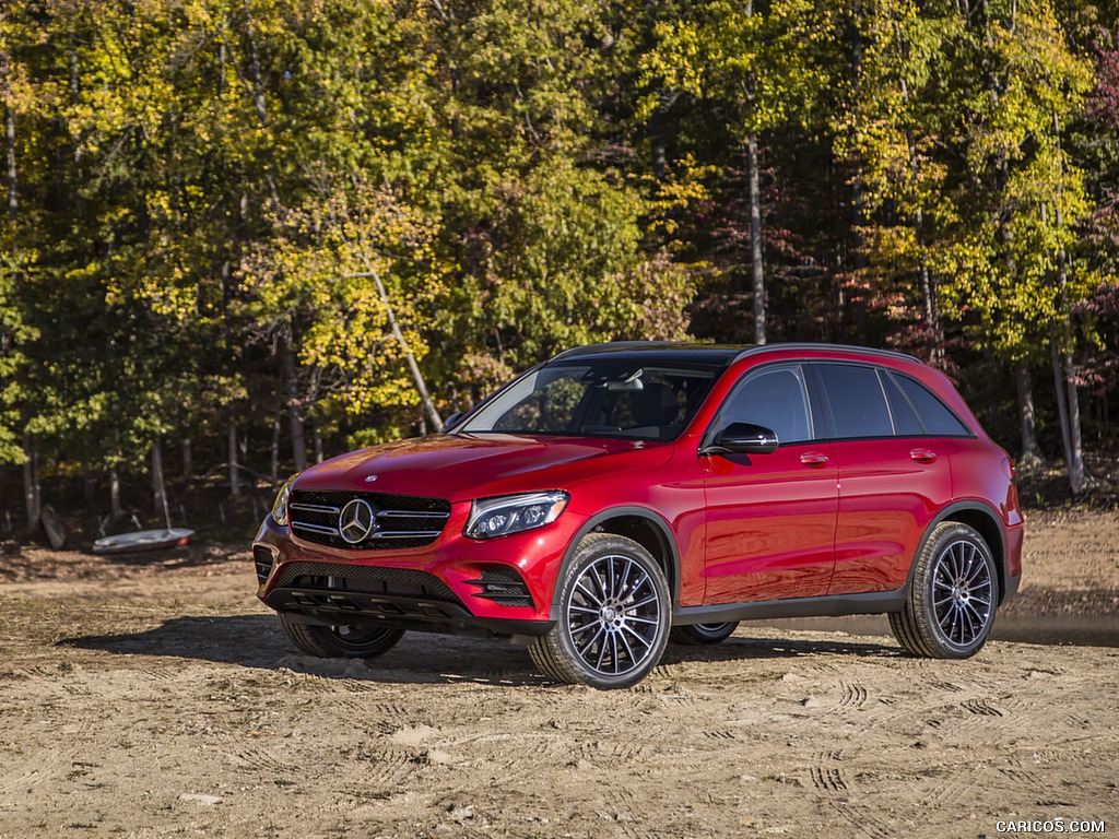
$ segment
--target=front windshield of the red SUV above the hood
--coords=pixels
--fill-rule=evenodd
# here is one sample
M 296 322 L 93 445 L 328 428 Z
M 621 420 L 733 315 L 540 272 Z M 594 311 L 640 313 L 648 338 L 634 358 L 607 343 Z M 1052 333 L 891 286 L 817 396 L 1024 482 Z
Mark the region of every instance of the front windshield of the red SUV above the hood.
M 457 432 L 675 440 L 714 369 L 580 359 L 521 376 Z

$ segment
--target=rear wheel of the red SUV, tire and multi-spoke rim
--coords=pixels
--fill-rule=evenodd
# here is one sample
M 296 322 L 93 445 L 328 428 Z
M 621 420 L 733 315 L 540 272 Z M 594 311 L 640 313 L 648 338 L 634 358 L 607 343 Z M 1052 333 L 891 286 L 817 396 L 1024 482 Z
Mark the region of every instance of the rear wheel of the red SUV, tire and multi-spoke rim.
M 890 629 L 913 656 L 966 659 L 987 643 L 997 607 L 990 548 L 972 528 L 946 521 L 918 556 L 905 607 L 890 615 Z

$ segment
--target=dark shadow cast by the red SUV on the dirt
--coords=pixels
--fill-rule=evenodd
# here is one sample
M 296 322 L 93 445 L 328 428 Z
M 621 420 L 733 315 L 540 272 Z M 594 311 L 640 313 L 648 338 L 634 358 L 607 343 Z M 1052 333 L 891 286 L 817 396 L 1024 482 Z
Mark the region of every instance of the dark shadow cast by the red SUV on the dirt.
M 120 656 L 166 656 L 264 670 L 288 670 L 322 678 L 384 684 L 554 685 L 516 644 L 454 635 L 410 632 L 374 660 L 320 659 L 300 653 L 271 614 L 185 616 L 143 632 L 79 635 L 59 647 Z M 669 644 L 662 664 L 689 661 L 750 661 L 803 656 L 895 657 L 890 645 L 815 639 L 732 638 L 716 647 Z

